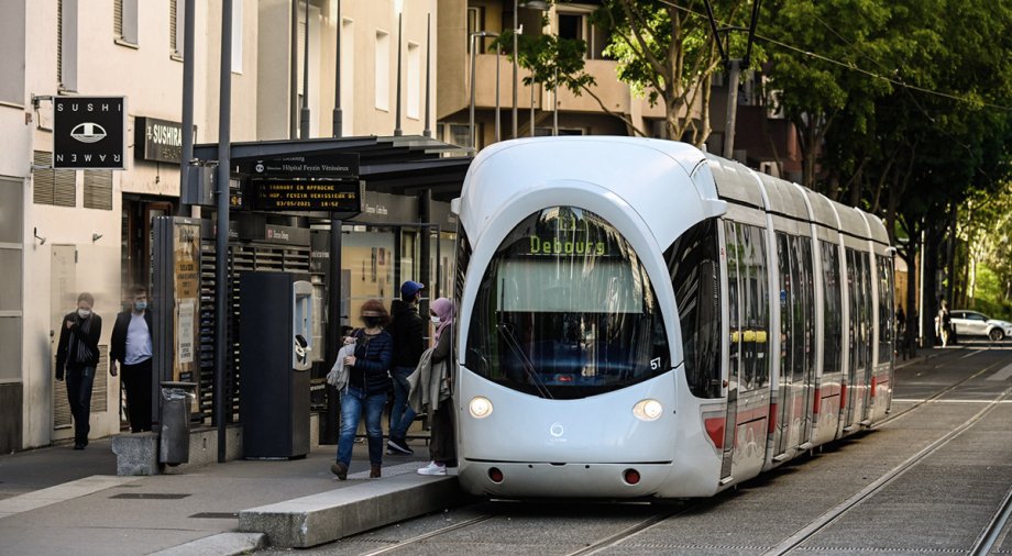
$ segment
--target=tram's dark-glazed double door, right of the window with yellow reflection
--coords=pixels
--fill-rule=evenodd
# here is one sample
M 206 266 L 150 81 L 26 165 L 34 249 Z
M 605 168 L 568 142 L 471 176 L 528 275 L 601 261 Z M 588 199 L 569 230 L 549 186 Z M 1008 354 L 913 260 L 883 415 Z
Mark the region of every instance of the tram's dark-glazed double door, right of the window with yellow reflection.
M 773 459 L 809 442 L 815 396 L 815 283 L 810 237 L 777 233 L 780 285 L 780 388 Z

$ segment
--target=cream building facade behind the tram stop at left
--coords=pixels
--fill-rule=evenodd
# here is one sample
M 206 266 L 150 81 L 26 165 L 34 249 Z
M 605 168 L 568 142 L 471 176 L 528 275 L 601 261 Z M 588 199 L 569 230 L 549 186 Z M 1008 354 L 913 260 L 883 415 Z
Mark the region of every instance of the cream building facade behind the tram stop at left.
M 405 135 L 421 134 L 427 14 L 437 1 L 344 1 L 343 135 L 395 127 L 398 43 Z M 54 380 L 61 318 L 89 291 L 103 318 L 92 437 L 120 430 L 108 352 L 122 291 L 150 279 L 151 219 L 179 207 L 177 163 L 139 158 L 138 119 L 182 121 L 184 0 L 0 0 L 0 451 L 73 436 Z M 196 2 L 196 142 L 217 141 L 221 0 Z M 301 0 L 234 0 L 232 140 L 288 138 L 301 96 Z M 338 0 L 309 2 L 310 136 L 331 136 Z M 296 31 L 297 29 L 297 31 Z M 297 41 L 293 41 L 293 34 Z M 398 41 L 398 37 L 400 38 Z M 297 82 L 293 46 L 297 45 Z M 436 82 L 435 75 L 432 82 Z M 298 92 L 295 92 L 298 91 Z M 127 98 L 125 170 L 53 170 L 56 96 Z M 433 109 L 435 113 L 435 109 Z M 143 140 L 143 133 L 138 140 Z

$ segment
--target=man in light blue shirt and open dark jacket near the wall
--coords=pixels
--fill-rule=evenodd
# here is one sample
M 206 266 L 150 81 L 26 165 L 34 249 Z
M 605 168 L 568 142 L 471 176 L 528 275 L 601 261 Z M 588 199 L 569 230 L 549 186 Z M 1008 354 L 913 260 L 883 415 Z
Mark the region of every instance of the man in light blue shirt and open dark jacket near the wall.
M 141 286 L 130 289 L 131 309 L 116 315 L 112 342 L 109 346 L 109 374 L 117 375 L 119 363 L 127 390 L 127 413 L 130 432 L 151 431 L 152 326 L 147 309 L 147 290 Z

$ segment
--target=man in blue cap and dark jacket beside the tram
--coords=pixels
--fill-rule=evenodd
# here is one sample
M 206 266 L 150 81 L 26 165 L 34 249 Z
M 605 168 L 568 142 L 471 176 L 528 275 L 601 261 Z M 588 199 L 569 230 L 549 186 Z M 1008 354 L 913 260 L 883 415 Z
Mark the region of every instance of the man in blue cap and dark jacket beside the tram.
M 391 375 L 394 378 L 394 405 L 391 408 L 391 438 L 387 454 L 414 454 L 408 447 L 408 427 L 415 421 L 415 411 L 408 405 L 408 376 L 418 366 L 425 352 L 426 321 L 418 314 L 418 301 L 425 285 L 408 280 L 400 286 L 400 299 L 391 304 L 393 321 L 386 331 L 394 337 L 394 357 Z

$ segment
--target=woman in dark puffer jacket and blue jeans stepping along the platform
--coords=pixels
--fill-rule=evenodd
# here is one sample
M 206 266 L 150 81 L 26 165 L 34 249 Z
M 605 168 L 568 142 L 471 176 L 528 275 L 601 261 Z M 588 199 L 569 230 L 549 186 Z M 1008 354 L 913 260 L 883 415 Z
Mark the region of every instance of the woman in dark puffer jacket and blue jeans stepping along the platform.
M 339 479 L 348 478 L 355 431 L 362 413 L 365 413 L 365 433 L 369 438 L 370 478 L 380 478 L 383 466 L 383 408 L 386 405 L 386 392 L 391 388 L 391 359 L 393 340 L 383 330 L 389 322 L 389 314 L 383 303 L 370 299 L 362 304 L 362 323 L 364 329 L 355 331 L 344 340 L 345 344 L 355 344 L 355 354 L 344 357 L 344 365 L 350 368 L 348 386 L 341 391 L 341 427 L 338 433 L 337 462 L 330 471 Z

